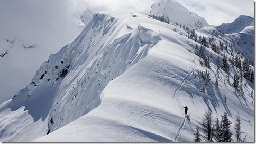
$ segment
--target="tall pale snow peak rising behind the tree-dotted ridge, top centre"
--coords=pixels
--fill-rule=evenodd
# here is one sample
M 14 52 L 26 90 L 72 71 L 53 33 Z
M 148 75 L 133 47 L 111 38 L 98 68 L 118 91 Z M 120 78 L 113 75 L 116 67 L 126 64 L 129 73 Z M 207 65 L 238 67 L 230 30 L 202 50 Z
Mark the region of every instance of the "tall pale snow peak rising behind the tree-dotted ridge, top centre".
M 151 6 L 151 14 L 169 17 L 170 22 L 185 25 L 189 29 L 200 29 L 209 24 L 203 17 L 189 11 L 175 0 L 160 0 Z

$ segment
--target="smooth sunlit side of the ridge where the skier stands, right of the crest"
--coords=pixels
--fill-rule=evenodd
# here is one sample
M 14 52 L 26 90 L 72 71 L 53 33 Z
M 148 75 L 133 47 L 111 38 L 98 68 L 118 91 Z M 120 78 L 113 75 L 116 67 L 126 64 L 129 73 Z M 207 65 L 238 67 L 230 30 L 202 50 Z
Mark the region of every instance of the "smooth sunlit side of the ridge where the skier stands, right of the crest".
M 136 20 L 141 19 L 138 13 L 136 16 Z M 127 24 L 128 28 L 131 26 Z M 188 39 L 185 30 L 176 31 L 179 26 L 141 19 L 139 27 L 158 32 L 160 37 L 149 54 L 104 88 L 97 108 L 49 135 L 36 139 L 36 142 L 191 142 L 197 126 L 200 128 L 200 138 L 206 142 L 207 139 L 203 138 L 205 133 L 200 127 L 206 110 L 212 112 L 213 119 L 218 117 L 220 120 L 221 115 L 227 112 L 233 133 L 235 117 L 239 113 L 242 118 L 241 128 L 245 132 L 241 137 L 246 135 L 246 141 L 254 141 L 254 105 L 251 97 L 254 85 L 250 81 L 242 78 L 243 90 L 236 91 L 232 83 L 234 74 L 239 75 L 239 71 L 230 67 L 230 81 L 227 81 L 222 69 L 217 74 L 216 61 L 221 55 L 211 48 L 205 48 L 205 54 L 211 56 L 211 68 L 200 65 L 201 58 L 194 54 L 198 43 Z M 221 41 L 234 47 L 232 38 L 214 27 L 205 27 L 196 31 L 196 34 L 214 37 L 215 45 Z M 154 37 L 134 36 L 145 41 Z M 221 53 L 231 57 L 232 47 L 227 46 Z M 205 70 L 208 70 L 211 81 L 204 94 L 200 92 L 204 83 L 200 71 Z M 214 86 L 216 78 L 218 88 Z M 189 117 L 185 117 L 185 105 L 188 106 Z M 232 139 L 235 141 L 234 134 Z

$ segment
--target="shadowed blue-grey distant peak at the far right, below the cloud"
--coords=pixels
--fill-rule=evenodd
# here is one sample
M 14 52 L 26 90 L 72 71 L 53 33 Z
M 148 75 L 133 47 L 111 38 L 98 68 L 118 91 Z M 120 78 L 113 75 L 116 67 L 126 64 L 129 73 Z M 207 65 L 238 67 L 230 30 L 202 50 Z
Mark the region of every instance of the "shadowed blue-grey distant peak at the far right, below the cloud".
M 239 33 L 247 26 L 254 26 L 254 18 L 250 16 L 241 15 L 232 23 L 223 23 L 220 26 L 216 26 L 222 33 L 231 34 Z

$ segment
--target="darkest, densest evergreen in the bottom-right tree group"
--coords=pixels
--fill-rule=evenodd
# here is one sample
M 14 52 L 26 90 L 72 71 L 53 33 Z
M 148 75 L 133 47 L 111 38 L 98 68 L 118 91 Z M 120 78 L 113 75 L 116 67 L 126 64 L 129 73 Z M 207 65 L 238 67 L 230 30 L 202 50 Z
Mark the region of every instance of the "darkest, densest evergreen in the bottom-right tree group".
M 231 122 L 227 118 L 227 113 L 224 112 L 224 115 L 221 116 L 221 128 L 220 131 L 218 132 L 218 135 L 220 136 L 220 142 L 231 141 L 232 132 L 230 132 L 230 124 Z

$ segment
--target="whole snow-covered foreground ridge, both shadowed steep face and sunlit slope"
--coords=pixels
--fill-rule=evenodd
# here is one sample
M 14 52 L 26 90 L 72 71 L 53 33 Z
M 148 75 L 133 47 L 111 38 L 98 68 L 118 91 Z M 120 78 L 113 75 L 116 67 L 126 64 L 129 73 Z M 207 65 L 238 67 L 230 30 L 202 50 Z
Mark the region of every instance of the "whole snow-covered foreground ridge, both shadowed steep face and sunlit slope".
M 76 39 L 41 65 L 31 84 L 0 105 L 0 140 L 193 141 L 210 109 L 219 119 L 226 111 L 231 130 L 240 112 L 246 139 L 253 141 L 254 85 L 248 81 L 239 96 L 220 70 L 219 88 L 211 83 L 206 94 L 200 92 L 199 71 L 207 68 L 194 54 L 196 42 L 175 28 L 136 11 L 94 14 Z M 208 48 L 206 53 L 218 55 Z M 208 69 L 212 81 L 214 65 L 212 60 Z

